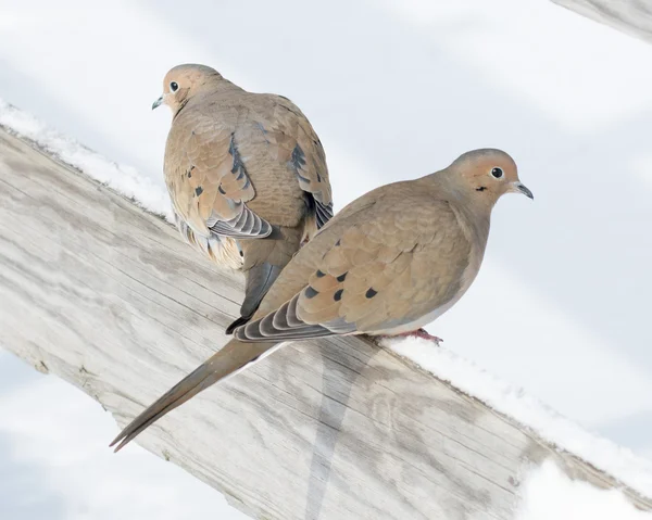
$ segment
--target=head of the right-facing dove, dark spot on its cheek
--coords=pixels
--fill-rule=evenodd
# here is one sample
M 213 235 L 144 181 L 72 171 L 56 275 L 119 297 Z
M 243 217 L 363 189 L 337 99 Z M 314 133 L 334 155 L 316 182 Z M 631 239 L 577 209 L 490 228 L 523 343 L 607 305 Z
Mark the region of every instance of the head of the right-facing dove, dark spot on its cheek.
M 514 160 L 502 150 L 473 150 L 460 155 L 449 167 L 472 200 L 492 206 L 504 193 L 521 193 L 534 199 L 518 178 Z

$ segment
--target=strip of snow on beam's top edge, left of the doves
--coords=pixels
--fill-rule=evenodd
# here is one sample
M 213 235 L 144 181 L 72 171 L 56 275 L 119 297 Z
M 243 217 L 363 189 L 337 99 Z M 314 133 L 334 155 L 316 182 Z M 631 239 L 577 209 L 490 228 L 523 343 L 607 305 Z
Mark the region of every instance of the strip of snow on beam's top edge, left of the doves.
M 165 215 L 172 221 L 170 196 L 162 182 L 156 183 L 131 166 L 103 157 L 2 99 L 0 125 L 33 141 L 63 163 L 136 200 L 146 210 Z

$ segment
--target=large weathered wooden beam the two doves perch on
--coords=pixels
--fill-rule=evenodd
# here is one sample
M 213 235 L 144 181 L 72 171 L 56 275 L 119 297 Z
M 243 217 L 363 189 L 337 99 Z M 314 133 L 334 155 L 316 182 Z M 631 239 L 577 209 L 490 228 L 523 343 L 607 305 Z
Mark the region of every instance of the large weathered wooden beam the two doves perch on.
M 0 267 L 0 343 L 121 426 L 225 343 L 241 299 L 167 223 L 2 130 Z M 511 519 L 547 458 L 619 485 L 353 338 L 290 344 L 138 442 L 261 519 Z

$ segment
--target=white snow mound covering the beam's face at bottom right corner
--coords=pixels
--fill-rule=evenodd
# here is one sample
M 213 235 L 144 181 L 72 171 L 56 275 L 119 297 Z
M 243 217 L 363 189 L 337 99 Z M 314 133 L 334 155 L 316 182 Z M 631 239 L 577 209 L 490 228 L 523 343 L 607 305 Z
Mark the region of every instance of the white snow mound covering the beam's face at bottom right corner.
M 514 520 L 650 520 L 617 490 L 598 490 L 568 479 L 551 460 L 522 484 Z

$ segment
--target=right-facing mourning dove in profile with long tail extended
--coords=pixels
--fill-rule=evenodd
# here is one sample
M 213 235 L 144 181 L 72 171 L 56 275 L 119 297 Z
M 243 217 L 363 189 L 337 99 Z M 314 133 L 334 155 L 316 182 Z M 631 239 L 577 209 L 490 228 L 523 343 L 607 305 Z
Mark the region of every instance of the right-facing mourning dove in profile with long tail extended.
M 466 292 L 507 192 L 532 193 L 505 152 L 475 150 L 421 179 L 344 207 L 286 266 L 236 339 L 138 416 L 123 447 L 156 419 L 288 340 L 398 335 L 432 321 Z

